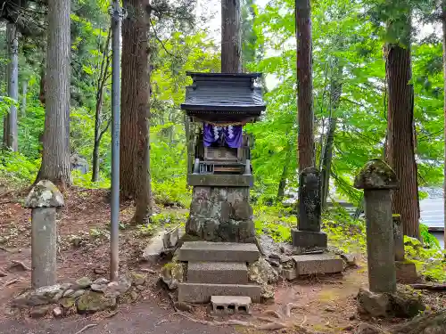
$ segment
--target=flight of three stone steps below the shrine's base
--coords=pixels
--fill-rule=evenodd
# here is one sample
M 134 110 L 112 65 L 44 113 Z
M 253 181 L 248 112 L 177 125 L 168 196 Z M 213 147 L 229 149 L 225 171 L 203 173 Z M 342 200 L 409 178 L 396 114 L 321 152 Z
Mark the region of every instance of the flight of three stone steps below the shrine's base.
M 245 296 L 260 303 L 261 287 L 248 281 L 247 268 L 259 256 L 252 243 L 185 242 L 178 260 L 187 262 L 187 273 L 178 286 L 178 300 L 209 303 L 212 296 Z

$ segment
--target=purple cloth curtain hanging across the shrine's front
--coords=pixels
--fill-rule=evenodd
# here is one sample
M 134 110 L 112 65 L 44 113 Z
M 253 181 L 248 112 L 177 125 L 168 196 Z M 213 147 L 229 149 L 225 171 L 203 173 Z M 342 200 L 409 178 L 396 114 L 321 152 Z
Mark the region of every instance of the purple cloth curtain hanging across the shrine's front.
M 243 126 L 212 126 L 209 123 L 203 125 L 204 146 L 212 143 L 226 143 L 232 149 L 242 146 Z

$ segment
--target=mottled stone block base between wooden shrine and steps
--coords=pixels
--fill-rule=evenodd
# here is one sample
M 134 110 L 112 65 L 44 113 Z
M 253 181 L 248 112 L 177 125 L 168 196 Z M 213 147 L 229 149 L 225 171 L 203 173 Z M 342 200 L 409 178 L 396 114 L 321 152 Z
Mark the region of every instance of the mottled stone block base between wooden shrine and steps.
M 186 234 L 206 241 L 255 242 L 249 187 L 195 186 Z

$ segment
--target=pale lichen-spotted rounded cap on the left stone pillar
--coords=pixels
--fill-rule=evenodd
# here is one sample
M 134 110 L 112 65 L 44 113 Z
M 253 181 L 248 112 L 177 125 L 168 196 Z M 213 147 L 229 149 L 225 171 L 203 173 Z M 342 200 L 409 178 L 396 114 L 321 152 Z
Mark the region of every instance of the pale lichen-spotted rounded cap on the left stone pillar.
M 37 183 L 25 200 L 25 208 L 58 208 L 64 205 L 61 191 L 48 180 Z

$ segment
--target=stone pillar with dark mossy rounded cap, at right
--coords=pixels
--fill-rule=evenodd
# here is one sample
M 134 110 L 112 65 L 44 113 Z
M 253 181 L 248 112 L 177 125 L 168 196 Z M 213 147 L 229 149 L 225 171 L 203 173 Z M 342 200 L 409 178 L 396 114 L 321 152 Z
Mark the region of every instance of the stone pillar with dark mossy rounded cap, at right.
M 355 179 L 364 190 L 367 224 L 368 284 L 372 292 L 396 291 L 392 221 L 392 189 L 398 181 L 383 160 L 370 160 Z

